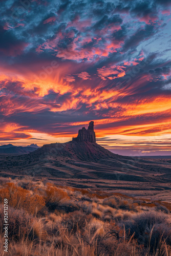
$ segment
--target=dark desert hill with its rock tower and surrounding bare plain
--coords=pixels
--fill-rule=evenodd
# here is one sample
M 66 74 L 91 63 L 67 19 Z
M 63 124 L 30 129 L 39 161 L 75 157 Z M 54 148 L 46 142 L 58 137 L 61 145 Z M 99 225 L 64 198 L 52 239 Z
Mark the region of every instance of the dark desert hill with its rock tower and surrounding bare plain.
M 171 199 L 170 159 L 113 154 L 95 142 L 93 122 L 88 130 L 84 127 L 79 130 L 72 141 L 47 144 L 26 155 L 0 156 L 0 175 L 12 178 L 32 176 L 57 184 L 125 190 L 126 193 L 161 191 L 163 196 L 167 191 L 167 199 Z

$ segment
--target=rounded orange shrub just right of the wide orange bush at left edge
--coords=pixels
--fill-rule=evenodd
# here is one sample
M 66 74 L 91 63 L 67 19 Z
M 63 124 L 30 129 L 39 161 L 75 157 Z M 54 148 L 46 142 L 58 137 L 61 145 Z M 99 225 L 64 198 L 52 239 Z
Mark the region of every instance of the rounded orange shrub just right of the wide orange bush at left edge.
M 45 193 L 46 206 L 49 210 L 55 210 L 70 199 L 66 191 L 55 186 L 51 186 L 51 184 L 48 184 Z

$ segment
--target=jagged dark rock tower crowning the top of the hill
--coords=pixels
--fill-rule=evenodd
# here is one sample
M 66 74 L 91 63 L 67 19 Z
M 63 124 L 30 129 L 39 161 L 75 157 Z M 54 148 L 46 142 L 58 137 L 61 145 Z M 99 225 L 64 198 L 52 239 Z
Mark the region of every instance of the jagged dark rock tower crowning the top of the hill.
M 94 122 L 91 121 L 89 123 L 88 130 L 85 127 L 82 127 L 82 129 L 78 131 L 78 136 L 76 138 L 73 137 L 72 140 L 78 141 L 78 142 L 87 141 L 87 142 L 95 143 L 96 135 L 94 132 Z

